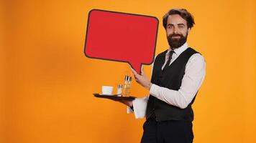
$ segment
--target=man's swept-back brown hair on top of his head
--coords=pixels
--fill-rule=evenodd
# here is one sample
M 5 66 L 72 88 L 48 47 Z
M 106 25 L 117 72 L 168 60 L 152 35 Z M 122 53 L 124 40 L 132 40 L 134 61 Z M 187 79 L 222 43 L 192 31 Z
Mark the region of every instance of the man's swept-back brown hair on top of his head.
M 166 26 L 167 26 L 168 16 L 173 15 L 173 14 L 178 14 L 183 19 L 185 19 L 187 21 L 188 28 L 192 28 L 193 24 L 195 24 L 195 21 L 193 20 L 193 16 L 186 9 L 170 9 L 170 11 L 168 11 L 163 16 L 163 26 L 165 27 L 165 29 L 166 29 Z

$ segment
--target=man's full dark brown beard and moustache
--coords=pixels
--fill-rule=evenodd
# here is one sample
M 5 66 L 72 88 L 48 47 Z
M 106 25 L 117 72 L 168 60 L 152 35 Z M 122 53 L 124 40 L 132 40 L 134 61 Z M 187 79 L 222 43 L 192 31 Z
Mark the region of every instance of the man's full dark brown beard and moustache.
M 173 36 L 180 36 L 180 38 L 173 39 Z M 186 36 L 183 36 L 182 34 L 170 34 L 167 36 L 168 43 L 170 45 L 171 49 L 177 49 L 178 47 L 182 46 L 186 43 L 188 37 L 188 32 Z

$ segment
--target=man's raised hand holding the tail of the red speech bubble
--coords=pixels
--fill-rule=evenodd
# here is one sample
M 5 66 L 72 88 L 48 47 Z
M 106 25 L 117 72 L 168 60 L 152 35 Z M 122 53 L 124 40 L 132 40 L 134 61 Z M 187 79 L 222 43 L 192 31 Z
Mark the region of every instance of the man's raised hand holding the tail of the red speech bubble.
M 140 84 L 140 85 L 142 85 L 142 87 L 145 87 L 146 89 L 150 90 L 152 83 L 147 79 L 147 76 L 144 73 L 143 67 L 141 69 L 141 74 L 137 74 L 137 72 L 134 69 L 132 69 L 132 73 L 134 74 L 135 80 L 138 84 Z

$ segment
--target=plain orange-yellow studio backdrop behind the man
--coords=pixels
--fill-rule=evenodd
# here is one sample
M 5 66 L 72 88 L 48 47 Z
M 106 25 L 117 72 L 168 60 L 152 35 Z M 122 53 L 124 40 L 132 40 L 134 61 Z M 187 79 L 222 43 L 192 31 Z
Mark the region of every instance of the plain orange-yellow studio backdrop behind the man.
M 195 17 L 188 44 L 206 59 L 194 142 L 256 142 L 254 0 L 1 1 L 0 142 L 140 142 L 145 119 L 92 95 L 103 84 L 116 90 L 129 66 L 84 56 L 88 11 L 156 16 L 159 54 L 168 48 L 162 16 L 175 7 Z M 148 92 L 133 81 L 132 94 Z

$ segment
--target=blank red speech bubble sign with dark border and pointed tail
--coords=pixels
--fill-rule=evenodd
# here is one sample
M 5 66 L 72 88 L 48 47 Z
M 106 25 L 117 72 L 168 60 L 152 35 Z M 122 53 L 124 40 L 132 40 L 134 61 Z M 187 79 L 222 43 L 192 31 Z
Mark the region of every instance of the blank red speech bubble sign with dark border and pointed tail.
M 93 9 L 88 14 L 85 54 L 128 62 L 140 73 L 142 64 L 154 61 L 157 28 L 153 16 Z

